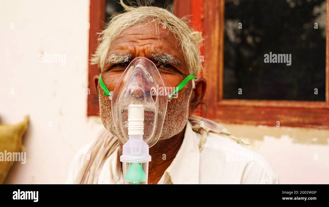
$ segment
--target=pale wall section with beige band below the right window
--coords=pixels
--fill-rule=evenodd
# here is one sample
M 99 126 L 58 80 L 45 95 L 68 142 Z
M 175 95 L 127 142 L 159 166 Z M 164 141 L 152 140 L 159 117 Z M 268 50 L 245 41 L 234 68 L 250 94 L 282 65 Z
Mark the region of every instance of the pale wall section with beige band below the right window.
M 281 184 L 329 184 L 328 129 L 221 124 L 264 155 Z

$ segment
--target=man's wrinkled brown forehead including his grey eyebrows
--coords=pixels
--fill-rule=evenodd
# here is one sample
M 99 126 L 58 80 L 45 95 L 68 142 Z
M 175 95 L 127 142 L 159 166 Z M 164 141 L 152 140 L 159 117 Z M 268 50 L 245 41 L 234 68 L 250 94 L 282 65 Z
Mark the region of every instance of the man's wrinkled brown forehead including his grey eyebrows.
M 171 64 L 183 74 L 188 74 L 179 41 L 162 25 L 148 24 L 124 29 L 111 43 L 105 65 L 124 63 L 139 56 Z

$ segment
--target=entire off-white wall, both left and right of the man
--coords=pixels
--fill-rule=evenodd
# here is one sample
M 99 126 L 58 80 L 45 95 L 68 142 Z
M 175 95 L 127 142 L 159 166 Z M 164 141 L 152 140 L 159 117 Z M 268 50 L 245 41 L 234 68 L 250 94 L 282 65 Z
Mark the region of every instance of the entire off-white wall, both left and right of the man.
M 0 2 L 0 123 L 30 115 L 28 160 L 6 183 L 63 183 L 75 152 L 103 127 L 87 117 L 88 22 L 88 0 Z M 39 63 L 44 52 L 65 54 L 66 65 Z M 329 130 L 223 125 L 263 154 L 281 183 L 329 183 Z

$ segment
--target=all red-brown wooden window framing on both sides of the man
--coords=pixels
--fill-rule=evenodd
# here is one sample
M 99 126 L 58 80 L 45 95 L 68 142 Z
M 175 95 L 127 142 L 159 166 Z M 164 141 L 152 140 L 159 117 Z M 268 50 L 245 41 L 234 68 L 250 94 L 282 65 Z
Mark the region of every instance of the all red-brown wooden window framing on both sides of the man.
M 223 48 L 224 48 L 224 5 L 225 0 L 175 0 L 174 14 L 178 17 L 190 15 L 191 26 L 202 31 L 205 38 L 201 55 L 206 72 L 208 102 L 207 118 L 217 122 L 262 124 L 275 126 L 298 126 L 329 128 L 329 2 L 327 1 L 326 40 L 326 101 L 267 101 L 223 99 Z M 105 0 L 90 2 L 89 55 L 97 46 L 96 32 L 105 22 Z M 104 12 L 99 12 L 104 11 Z M 98 103 L 92 103 L 96 93 L 93 77 L 98 74 L 97 66 L 89 66 L 88 115 L 99 115 Z

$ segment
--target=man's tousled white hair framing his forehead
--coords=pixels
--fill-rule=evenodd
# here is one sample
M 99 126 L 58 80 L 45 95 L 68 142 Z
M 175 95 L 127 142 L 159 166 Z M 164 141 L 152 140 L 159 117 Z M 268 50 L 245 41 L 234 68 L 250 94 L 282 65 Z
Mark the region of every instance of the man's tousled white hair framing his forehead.
M 152 6 L 130 7 L 120 0 L 120 4 L 125 12 L 112 17 L 109 25 L 98 38 L 98 47 L 92 55 L 91 64 L 98 64 L 103 71 L 107 61 L 108 50 L 112 41 L 126 28 L 131 26 L 145 26 L 147 24 L 165 25 L 165 28 L 172 32 L 188 65 L 190 74 L 198 75 L 202 70 L 200 61 L 199 46 L 202 42 L 201 32 L 194 31 L 185 21 L 186 18 L 179 19 L 166 9 Z M 155 27 L 157 29 L 157 27 Z M 163 27 L 164 28 L 164 27 Z

